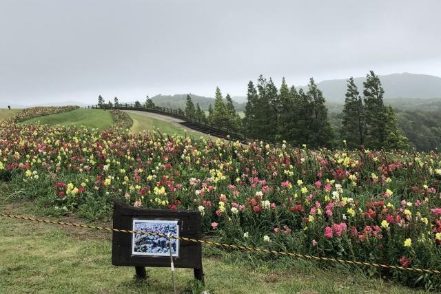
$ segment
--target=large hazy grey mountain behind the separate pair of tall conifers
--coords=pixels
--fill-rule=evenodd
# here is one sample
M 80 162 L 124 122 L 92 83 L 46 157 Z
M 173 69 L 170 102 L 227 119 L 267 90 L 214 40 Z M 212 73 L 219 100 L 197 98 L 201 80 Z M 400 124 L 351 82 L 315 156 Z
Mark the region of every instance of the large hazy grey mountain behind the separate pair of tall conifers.
M 354 78 L 362 96 L 363 82 L 366 78 Z M 380 76 L 384 87 L 384 98 L 441 98 L 441 78 L 427 74 L 388 74 Z M 347 80 L 328 80 L 317 84 L 327 101 L 343 103 L 347 89 Z M 307 90 L 307 87 L 299 87 Z

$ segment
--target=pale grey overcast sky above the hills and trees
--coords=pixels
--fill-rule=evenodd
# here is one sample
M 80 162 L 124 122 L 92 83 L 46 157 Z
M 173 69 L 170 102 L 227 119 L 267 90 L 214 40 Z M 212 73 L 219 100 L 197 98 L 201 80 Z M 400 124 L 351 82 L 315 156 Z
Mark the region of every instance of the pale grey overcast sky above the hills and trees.
M 259 74 L 441 76 L 440 11 L 438 0 L 0 0 L 0 102 L 243 96 Z

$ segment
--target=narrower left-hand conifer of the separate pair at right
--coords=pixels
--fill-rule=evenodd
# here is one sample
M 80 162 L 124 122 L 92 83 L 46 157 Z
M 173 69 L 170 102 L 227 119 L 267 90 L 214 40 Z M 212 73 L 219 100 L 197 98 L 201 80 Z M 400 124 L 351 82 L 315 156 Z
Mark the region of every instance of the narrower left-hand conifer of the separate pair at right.
M 343 108 L 341 138 L 346 140 L 350 148 L 359 148 L 364 144 L 365 117 L 362 98 L 358 95 L 358 89 L 353 77 L 347 81 L 345 94 L 345 107 Z

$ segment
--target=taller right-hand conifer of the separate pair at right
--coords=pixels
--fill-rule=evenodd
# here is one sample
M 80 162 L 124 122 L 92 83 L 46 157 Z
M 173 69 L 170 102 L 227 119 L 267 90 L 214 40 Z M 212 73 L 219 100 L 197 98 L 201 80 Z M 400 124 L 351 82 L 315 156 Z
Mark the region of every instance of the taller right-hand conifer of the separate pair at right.
M 372 149 L 381 149 L 386 140 L 387 114 L 383 103 L 384 90 L 380 78 L 369 72 L 363 83 L 365 90 L 365 145 Z

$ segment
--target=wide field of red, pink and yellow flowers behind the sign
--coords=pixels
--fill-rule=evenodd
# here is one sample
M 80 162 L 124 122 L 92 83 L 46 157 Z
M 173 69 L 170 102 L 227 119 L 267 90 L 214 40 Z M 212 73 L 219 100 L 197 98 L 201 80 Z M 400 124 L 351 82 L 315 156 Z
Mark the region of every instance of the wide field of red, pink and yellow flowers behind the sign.
M 16 120 L 17 121 L 17 120 Z M 224 242 L 441 269 L 441 155 L 0 123 L 0 176 L 52 214 L 195 209 Z M 439 276 L 389 275 L 441 290 Z

